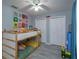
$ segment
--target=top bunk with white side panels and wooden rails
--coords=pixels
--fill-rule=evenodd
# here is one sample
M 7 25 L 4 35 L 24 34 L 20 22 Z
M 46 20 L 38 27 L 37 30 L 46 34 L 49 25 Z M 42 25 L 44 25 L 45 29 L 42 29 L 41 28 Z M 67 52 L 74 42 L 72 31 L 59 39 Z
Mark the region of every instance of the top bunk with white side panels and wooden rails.
M 13 41 L 20 41 L 30 37 L 34 37 L 40 34 L 40 31 L 28 30 L 25 32 L 6 31 L 3 32 L 3 39 L 9 39 Z

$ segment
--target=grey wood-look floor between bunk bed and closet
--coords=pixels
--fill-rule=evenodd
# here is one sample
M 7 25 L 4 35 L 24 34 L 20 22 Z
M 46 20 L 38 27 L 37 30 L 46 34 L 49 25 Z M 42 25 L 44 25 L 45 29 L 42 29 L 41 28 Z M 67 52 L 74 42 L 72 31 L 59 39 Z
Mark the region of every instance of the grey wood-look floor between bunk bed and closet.
M 42 44 L 27 59 L 62 59 L 60 47 Z

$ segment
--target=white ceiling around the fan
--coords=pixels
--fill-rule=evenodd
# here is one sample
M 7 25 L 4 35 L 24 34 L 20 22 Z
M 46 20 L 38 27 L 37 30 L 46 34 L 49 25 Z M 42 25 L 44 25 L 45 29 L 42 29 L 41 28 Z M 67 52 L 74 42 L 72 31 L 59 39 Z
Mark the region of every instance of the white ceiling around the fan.
M 48 9 L 44 10 L 30 10 L 28 9 L 29 3 L 27 0 L 2 0 L 3 4 L 15 5 L 18 10 L 29 15 L 43 15 L 51 12 L 69 11 L 71 9 L 72 0 L 40 0 L 42 4 L 46 5 Z

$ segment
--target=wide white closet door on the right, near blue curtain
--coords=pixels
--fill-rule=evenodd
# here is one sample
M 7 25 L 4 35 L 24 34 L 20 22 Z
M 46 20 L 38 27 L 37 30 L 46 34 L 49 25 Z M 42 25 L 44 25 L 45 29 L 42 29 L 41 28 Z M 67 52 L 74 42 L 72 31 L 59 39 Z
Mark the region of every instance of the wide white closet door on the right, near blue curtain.
M 50 44 L 65 46 L 66 41 L 66 19 L 56 17 L 49 20 Z

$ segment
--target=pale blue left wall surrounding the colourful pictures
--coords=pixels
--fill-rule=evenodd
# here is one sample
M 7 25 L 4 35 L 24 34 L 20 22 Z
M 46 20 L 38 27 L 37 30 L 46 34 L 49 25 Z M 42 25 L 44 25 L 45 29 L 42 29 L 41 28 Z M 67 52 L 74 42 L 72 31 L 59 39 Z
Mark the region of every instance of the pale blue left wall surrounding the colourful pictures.
M 23 13 L 21 11 L 18 11 L 8 5 L 3 4 L 2 5 L 2 29 L 11 30 L 13 29 L 13 17 L 14 12 Z M 24 13 L 23 13 L 24 14 Z M 26 14 L 27 15 L 27 14 Z M 28 16 L 28 15 L 27 15 Z M 33 17 L 28 16 L 29 24 L 33 25 Z

